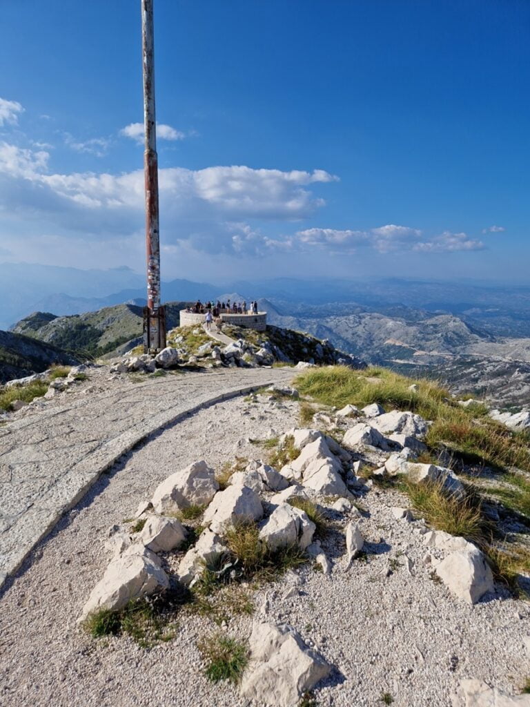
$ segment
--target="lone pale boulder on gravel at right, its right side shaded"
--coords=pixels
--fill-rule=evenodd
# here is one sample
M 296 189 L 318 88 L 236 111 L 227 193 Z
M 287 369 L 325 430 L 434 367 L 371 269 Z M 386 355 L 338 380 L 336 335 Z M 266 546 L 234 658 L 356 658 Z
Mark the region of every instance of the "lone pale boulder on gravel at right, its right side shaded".
M 469 604 L 476 604 L 487 592 L 495 590 L 490 566 L 474 545 L 452 552 L 437 564 L 435 571 L 449 591 Z

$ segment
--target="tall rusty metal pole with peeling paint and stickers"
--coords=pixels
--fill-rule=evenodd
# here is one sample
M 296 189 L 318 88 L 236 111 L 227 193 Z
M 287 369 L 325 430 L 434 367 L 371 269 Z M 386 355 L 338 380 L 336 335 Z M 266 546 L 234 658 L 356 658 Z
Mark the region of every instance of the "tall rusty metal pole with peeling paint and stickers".
M 160 305 L 160 239 L 158 230 L 158 157 L 156 154 L 155 50 L 153 0 L 141 0 L 143 125 L 146 182 L 147 307 L 143 310 L 143 350 L 165 348 L 165 312 Z

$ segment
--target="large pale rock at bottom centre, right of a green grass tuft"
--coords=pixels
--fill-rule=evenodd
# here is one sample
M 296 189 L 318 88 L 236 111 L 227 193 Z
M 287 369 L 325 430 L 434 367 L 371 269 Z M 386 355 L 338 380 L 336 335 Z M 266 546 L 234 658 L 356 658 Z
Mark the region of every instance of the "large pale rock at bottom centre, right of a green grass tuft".
M 331 672 L 331 665 L 290 626 L 256 623 L 249 643 L 250 665 L 241 692 L 257 703 L 293 707 Z

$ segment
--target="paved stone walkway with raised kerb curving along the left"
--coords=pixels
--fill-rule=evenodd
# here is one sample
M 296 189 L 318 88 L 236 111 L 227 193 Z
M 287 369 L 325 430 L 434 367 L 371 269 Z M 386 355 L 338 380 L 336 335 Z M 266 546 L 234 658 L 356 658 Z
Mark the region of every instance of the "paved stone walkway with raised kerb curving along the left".
M 287 369 L 217 369 L 160 377 L 109 376 L 40 399 L 0 427 L 0 588 L 30 549 L 100 474 L 148 434 Z

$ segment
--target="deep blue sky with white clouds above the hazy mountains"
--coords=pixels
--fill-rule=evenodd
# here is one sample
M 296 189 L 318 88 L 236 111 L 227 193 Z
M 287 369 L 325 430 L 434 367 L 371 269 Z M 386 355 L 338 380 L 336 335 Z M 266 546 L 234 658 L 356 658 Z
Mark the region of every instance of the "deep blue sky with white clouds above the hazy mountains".
M 4 0 L 0 261 L 143 270 L 140 1 Z M 530 3 L 155 0 L 163 276 L 526 282 Z

